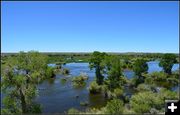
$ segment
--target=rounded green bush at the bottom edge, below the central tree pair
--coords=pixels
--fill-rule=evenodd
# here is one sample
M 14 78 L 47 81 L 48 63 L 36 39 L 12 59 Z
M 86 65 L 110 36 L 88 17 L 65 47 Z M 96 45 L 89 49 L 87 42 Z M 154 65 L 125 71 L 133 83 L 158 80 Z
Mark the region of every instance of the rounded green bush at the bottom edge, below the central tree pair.
M 123 102 L 120 99 L 113 99 L 106 105 L 105 113 L 107 114 L 122 114 Z

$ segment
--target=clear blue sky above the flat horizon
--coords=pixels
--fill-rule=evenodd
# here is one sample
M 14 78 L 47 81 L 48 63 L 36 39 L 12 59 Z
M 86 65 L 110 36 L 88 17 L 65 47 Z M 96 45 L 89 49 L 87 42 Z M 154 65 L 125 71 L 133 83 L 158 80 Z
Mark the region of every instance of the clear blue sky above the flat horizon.
M 178 2 L 2 2 L 1 51 L 179 52 Z

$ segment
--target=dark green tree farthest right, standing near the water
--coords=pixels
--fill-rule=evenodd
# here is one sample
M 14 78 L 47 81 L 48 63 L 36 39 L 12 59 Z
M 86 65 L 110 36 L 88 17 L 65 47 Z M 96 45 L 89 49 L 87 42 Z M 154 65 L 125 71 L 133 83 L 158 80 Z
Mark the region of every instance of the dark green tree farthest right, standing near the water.
M 167 53 L 162 56 L 159 66 L 163 67 L 165 73 L 171 74 L 172 73 L 171 69 L 173 67 L 173 64 L 176 62 L 177 62 L 176 55 Z

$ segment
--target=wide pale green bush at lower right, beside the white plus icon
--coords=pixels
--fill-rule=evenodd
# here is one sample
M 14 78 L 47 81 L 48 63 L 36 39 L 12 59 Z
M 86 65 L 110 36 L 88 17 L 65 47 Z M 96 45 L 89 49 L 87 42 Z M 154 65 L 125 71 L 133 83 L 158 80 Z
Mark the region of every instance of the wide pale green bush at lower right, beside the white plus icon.
M 132 96 L 130 105 L 137 113 L 161 111 L 164 108 L 164 100 L 178 99 L 178 93 L 161 88 L 159 93 L 150 91 L 140 92 Z

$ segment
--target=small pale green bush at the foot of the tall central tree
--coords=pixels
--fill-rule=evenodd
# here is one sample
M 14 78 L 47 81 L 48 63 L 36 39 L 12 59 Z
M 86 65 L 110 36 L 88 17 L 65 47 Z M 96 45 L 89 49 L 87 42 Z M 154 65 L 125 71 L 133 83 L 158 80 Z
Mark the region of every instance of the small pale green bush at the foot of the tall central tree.
M 91 82 L 89 86 L 89 91 L 92 94 L 100 93 L 101 92 L 101 86 L 96 83 L 96 81 Z

